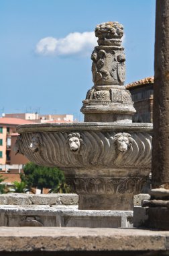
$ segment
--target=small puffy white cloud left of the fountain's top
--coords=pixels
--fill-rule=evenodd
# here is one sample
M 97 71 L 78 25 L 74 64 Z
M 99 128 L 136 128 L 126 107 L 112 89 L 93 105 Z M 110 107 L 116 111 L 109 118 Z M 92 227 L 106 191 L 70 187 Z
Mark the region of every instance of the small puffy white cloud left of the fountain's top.
M 42 38 L 36 44 L 36 53 L 39 55 L 89 55 L 96 45 L 95 32 L 74 32 L 64 38 Z

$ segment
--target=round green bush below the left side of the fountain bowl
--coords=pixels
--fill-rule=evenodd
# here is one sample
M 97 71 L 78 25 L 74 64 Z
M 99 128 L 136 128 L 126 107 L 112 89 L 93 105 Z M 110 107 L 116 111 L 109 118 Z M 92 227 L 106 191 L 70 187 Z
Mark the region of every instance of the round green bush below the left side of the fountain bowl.
M 37 187 L 51 189 L 55 193 L 68 193 L 68 186 L 65 184 L 64 173 L 56 167 L 38 166 L 33 162 L 25 164 L 21 181 L 28 189 Z

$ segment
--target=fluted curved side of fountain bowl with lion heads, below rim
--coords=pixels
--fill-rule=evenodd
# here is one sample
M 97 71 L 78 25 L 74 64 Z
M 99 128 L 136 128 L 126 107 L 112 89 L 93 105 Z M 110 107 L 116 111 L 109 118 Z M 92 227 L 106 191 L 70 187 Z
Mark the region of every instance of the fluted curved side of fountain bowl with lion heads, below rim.
M 112 131 L 109 131 L 110 127 Z M 85 126 L 79 125 L 79 137 L 76 137 L 77 132 L 74 132 L 74 136 L 71 137 L 78 143 L 78 148 L 75 151 L 71 150 L 74 143 L 72 141 L 70 144 L 72 133 L 66 131 L 40 133 L 36 132 L 35 127 L 32 133 L 23 132 L 20 135 L 20 140 L 23 143 L 23 151 L 27 158 L 40 165 L 58 166 L 64 170 L 66 166 L 69 170 L 72 167 L 85 168 L 89 166 L 90 168 L 99 166 L 102 169 L 105 166 L 123 168 L 137 168 L 139 166 L 139 168 L 143 168 L 143 171 L 146 170 L 145 168 L 150 168 L 152 155 L 151 125 L 150 128 L 147 127 L 147 132 L 142 132 L 142 128 L 146 129 L 142 125 L 140 125 L 141 131 L 137 131 L 138 126 L 135 127 L 136 131 L 134 128 L 133 131 L 130 131 L 128 126 L 125 127 L 124 124 L 119 125 L 121 132 L 115 131 L 115 127 L 111 124 L 104 128 L 102 125 L 96 124 L 95 131 L 89 132 L 84 130 Z M 37 140 L 40 138 L 40 141 L 36 141 L 36 145 L 34 145 L 36 152 L 32 152 L 29 146 L 33 143 L 32 138 L 35 139 L 35 137 Z M 119 150 L 123 146 L 127 147 L 125 151 Z M 63 154 L 64 157 L 62 157 Z

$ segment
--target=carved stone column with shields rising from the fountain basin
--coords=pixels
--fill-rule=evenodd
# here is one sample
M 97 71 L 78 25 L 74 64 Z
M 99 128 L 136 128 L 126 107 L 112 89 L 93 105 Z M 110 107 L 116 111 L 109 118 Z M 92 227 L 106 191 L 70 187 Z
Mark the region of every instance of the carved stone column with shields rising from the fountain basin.
M 118 22 L 97 25 L 99 46 L 91 55 L 94 86 L 81 108 L 84 121 L 131 123 L 135 113 L 125 82 L 125 53 L 121 46 L 123 26 Z

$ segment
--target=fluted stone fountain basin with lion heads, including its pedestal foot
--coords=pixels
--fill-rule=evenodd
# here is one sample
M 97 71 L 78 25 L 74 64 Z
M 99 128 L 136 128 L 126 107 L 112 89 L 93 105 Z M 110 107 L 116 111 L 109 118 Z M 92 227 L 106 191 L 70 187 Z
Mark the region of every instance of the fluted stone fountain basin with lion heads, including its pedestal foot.
M 148 181 L 152 124 L 30 124 L 17 132 L 17 152 L 64 170 L 80 210 L 132 210 L 133 195 Z

